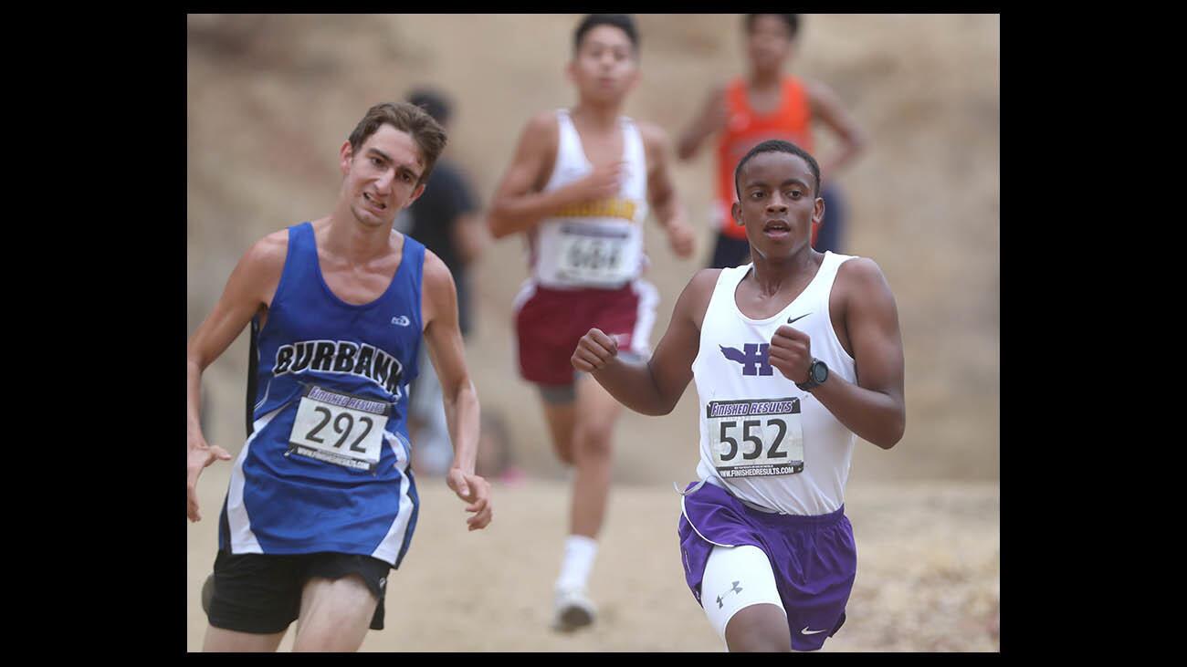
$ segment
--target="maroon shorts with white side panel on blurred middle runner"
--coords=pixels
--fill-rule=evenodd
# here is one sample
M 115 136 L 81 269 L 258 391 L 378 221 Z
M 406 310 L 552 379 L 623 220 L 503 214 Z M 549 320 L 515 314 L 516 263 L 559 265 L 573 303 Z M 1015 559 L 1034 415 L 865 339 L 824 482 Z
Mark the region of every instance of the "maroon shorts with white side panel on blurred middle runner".
M 572 385 L 572 356 L 590 329 L 618 339 L 618 351 L 650 354 L 659 294 L 635 280 L 617 290 L 554 290 L 528 281 L 515 297 L 520 374 L 539 385 Z

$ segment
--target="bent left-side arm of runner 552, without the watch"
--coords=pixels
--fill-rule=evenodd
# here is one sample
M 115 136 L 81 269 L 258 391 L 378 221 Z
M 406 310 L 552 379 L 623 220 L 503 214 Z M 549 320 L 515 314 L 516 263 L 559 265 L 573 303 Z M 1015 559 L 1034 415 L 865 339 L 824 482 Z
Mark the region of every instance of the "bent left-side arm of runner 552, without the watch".
M 650 415 L 668 414 L 679 402 L 700 347 L 700 324 L 721 269 L 697 272 L 677 299 L 672 320 L 647 362 L 627 362 L 617 344 L 598 329 L 582 337 L 573 351 L 573 368 L 590 373 L 622 405 Z

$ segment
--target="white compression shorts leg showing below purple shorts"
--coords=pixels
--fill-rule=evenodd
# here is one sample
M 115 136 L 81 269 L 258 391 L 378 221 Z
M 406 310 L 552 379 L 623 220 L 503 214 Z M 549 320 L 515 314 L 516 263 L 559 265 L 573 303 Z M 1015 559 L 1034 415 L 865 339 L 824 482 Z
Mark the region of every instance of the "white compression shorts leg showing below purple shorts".
M 723 642 L 730 618 L 751 604 L 774 604 L 787 616 L 770 560 L 761 548 L 750 545 L 713 547 L 700 580 L 700 603 Z

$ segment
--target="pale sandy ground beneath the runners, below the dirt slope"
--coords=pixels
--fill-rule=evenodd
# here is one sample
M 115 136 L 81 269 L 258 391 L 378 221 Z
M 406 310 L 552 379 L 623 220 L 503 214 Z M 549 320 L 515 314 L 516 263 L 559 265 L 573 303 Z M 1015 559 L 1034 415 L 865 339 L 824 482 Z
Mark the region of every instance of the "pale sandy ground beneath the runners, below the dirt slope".
M 188 650 L 201 649 L 207 628 L 198 596 L 218 544 L 228 470 L 202 479 L 207 517 L 188 527 Z M 569 504 L 563 482 L 495 485 L 495 521 L 476 533 L 465 531 L 462 503 L 440 479 L 423 482 L 420 493 L 412 547 L 391 578 L 386 628 L 370 631 L 362 650 L 724 650 L 684 583 L 671 487 L 614 489 L 590 580 L 601 618 L 569 635 L 547 627 Z M 851 481 L 846 513 L 857 582 L 848 621 L 825 650 L 999 649 L 997 484 Z

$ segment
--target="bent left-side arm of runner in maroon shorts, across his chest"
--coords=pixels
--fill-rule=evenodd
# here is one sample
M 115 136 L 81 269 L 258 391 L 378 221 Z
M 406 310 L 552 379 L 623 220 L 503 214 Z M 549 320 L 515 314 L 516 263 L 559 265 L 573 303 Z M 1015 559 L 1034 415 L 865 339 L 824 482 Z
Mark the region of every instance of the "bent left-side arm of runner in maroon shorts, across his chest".
M 526 231 L 570 204 L 603 199 L 618 192 L 622 163 L 595 167 L 584 178 L 541 192 L 556 163 L 558 136 L 553 112 L 537 114 L 523 128 L 515 157 L 495 190 L 487 215 L 487 225 L 495 239 Z

